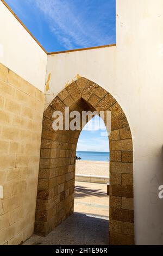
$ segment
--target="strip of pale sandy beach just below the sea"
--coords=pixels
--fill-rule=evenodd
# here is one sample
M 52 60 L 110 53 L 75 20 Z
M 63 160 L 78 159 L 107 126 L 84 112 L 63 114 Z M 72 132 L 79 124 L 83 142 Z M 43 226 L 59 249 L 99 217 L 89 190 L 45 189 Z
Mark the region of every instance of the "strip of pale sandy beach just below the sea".
M 109 176 L 109 162 L 77 160 L 76 174 Z

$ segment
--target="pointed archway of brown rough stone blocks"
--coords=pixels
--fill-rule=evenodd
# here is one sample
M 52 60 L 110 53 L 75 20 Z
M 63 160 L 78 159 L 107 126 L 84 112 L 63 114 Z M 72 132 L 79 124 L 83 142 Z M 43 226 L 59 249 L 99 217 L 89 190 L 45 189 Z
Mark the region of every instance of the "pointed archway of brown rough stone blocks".
M 106 90 L 82 77 L 62 90 L 43 114 L 35 233 L 47 235 L 73 213 L 79 131 L 54 131 L 54 111 L 111 111 L 110 244 L 134 244 L 133 143 L 122 108 Z

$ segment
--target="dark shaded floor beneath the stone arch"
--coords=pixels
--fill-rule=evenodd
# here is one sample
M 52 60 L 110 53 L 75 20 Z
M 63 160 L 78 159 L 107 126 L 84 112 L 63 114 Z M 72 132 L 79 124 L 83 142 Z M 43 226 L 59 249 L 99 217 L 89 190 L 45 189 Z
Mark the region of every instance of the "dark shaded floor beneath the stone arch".
M 24 245 L 108 245 L 109 221 L 74 212 L 46 237 L 33 235 Z

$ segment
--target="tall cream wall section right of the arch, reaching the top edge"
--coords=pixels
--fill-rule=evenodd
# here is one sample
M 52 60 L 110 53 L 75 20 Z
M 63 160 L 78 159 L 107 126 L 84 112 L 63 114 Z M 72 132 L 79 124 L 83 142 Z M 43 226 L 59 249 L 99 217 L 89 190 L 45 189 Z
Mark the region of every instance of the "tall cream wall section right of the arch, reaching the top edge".
M 163 1 L 117 0 L 116 83 L 134 143 L 137 244 L 163 244 Z

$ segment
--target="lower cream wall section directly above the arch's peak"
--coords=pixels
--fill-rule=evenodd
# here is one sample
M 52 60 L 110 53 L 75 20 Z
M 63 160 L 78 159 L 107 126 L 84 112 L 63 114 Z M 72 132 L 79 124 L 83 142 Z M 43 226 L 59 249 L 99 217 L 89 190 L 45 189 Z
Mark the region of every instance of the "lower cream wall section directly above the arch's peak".
M 49 90 L 46 92 L 45 108 L 57 94 L 78 75 L 86 77 L 107 89 L 114 81 L 115 46 L 48 56 L 47 76 Z

